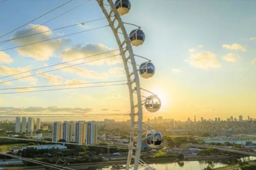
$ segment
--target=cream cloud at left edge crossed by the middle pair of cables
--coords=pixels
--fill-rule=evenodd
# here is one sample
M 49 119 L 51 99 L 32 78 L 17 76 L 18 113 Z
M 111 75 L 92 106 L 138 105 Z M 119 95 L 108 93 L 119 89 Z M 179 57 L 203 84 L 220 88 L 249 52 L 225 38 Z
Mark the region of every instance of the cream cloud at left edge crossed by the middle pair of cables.
M 18 74 L 20 72 L 26 72 L 26 71 L 29 71 L 29 70 L 30 69 L 28 67 L 24 67 L 24 68 L 10 68 L 10 67 L 7 67 L 7 66 L 0 66 L 0 75 L 10 76 L 10 75 L 13 75 L 13 74 Z M 12 77 L 20 78 L 20 77 L 30 76 L 30 75 L 31 75 L 30 72 L 26 72 L 24 74 L 12 76 Z M 19 79 L 19 81 L 20 82 L 28 82 L 28 83 L 30 83 L 32 85 L 36 85 L 38 79 L 35 78 L 35 77 L 26 77 L 26 78 Z

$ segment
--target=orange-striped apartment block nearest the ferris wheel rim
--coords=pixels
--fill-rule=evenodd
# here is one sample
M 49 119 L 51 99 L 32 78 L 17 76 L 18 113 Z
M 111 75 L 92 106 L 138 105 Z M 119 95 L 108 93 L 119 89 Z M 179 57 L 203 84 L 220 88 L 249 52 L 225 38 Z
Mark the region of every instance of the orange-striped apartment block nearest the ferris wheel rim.
M 75 125 L 75 141 L 79 144 L 97 143 L 98 126 L 94 122 L 78 121 Z

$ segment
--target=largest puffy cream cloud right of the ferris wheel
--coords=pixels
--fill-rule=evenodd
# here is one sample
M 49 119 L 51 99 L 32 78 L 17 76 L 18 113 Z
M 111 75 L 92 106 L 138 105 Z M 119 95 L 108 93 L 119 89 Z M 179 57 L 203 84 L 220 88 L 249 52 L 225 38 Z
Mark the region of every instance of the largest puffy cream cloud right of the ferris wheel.
M 208 69 L 221 67 L 216 54 L 210 51 L 192 52 L 190 58 L 186 61 L 196 68 Z

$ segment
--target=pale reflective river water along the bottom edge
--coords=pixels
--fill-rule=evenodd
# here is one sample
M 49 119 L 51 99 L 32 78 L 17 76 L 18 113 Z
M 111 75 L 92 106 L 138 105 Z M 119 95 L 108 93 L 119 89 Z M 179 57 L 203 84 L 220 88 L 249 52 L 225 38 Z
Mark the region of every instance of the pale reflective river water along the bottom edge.
M 256 157 L 253 157 L 253 156 L 245 157 L 245 158 L 250 160 L 256 159 Z M 224 167 L 224 166 L 236 163 L 235 158 L 211 160 L 211 161 L 214 162 L 215 168 Z M 183 165 L 182 164 L 179 165 L 178 163 L 175 163 L 175 162 L 159 159 L 159 160 L 155 160 L 154 163 L 149 163 L 149 165 L 151 167 L 156 168 L 157 170 L 202 170 L 207 166 L 207 163 L 206 161 L 184 161 Z M 98 170 L 110 170 L 110 167 L 100 168 Z M 139 170 L 144 170 L 144 168 L 141 167 L 139 168 Z

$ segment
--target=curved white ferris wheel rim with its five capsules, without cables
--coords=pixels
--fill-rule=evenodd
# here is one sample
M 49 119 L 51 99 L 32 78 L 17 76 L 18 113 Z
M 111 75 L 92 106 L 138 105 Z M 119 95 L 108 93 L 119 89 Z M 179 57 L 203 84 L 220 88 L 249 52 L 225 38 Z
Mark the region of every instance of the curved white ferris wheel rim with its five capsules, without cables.
M 138 55 L 134 54 L 132 48 L 132 46 L 140 46 L 143 44 L 145 41 L 145 34 L 141 30 L 141 27 L 133 23 L 123 22 L 120 17 L 129 13 L 131 9 L 131 2 L 129 0 L 116 0 L 115 3 L 112 0 L 97 1 L 117 40 L 128 81 L 127 85 L 129 88 L 131 106 L 131 126 L 126 170 L 129 170 L 131 167 L 132 159 L 134 159 L 134 170 L 138 170 L 139 164 L 146 165 L 147 170 L 154 170 L 154 168 L 151 168 L 140 159 L 141 142 L 142 140 L 146 140 L 146 143 L 151 148 L 158 148 L 162 143 L 162 135 L 153 127 L 143 123 L 142 105 L 144 105 L 145 109 L 149 112 L 157 112 L 161 107 L 161 102 L 158 96 L 153 93 L 149 97 L 144 97 L 145 100 L 142 101 L 141 98 L 143 96 L 141 96 L 141 90 L 147 90 L 140 87 L 138 72 L 142 78 L 151 78 L 155 73 L 155 66 L 151 63 L 151 60 L 142 57 L 148 61 L 139 65 L 138 69 L 135 61 L 135 56 Z M 136 27 L 136 29 L 131 31 L 128 35 L 124 26 L 125 24 L 132 25 Z M 151 93 L 150 91 L 147 92 Z M 136 117 L 138 117 L 138 121 L 136 121 Z M 147 128 L 143 128 L 143 126 L 147 126 Z M 143 133 L 143 130 L 146 132 Z M 142 138 L 144 134 L 146 134 L 146 136 L 145 138 Z

